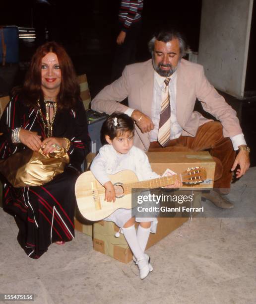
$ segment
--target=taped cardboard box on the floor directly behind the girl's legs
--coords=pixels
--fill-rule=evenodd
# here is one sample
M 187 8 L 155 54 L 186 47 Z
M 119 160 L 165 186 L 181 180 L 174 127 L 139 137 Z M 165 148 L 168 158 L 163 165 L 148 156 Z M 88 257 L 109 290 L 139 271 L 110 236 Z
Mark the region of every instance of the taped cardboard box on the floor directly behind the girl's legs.
M 186 192 L 188 192 L 188 190 Z M 200 191 L 196 191 L 194 193 L 193 206 L 200 205 L 200 199 L 201 193 Z M 178 203 L 175 203 L 176 207 L 178 207 L 178 205 Z M 181 213 L 176 213 L 173 218 L 158 218 L 157 231 L 156 233 L 150 233 L 146 249 L 188 221 L 189 217 L 182 218 L 181 216 Z M 137 225 L 138 223 L 135 223 L 135 226 Z M 101 221 L 93 224 L 93 248 L 120 262 L 128 263 L 132 259 L 132 252 L 122 233 L 120 233 L 119 237 L 115 237 L 115 233 L 118 231 L 119 227 L 113 222 Z

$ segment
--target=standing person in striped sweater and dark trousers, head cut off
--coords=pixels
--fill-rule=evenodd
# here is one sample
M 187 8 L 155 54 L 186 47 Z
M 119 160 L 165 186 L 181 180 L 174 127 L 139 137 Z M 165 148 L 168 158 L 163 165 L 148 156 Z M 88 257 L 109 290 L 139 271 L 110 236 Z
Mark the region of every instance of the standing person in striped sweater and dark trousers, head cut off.
M 118 36 L 111 80 L 118 79 L 128 64 L 135 62 L 136 44 L 141 32 L 143 0 L 122 0 L 119 9 Z

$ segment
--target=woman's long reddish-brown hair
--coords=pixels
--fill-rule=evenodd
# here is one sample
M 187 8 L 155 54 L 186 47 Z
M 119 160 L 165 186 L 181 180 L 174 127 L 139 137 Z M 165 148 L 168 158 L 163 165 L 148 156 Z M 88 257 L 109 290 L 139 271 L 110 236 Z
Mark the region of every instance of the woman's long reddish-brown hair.
M 80 86 L 71 59 L 64 48 L 55 41 L 41 45 L 33 55 L 27 71 L 23 87 L 14 89 L 12 94 L 19 94 L 26 105 L 37 106 L 38 98 L 43 99 L 41 89 L 41 61 L 48 53 L 55 53 L 62 71 L 60 93 L 57 98 L 59 109 L 71 109 L 75 101 L 80 99 Z

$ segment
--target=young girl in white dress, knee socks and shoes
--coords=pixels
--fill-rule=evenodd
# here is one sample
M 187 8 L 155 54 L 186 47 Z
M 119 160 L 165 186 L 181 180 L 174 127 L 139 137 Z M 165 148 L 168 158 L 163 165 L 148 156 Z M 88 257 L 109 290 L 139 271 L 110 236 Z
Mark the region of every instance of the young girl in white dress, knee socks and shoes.
M 153 172 L 147 155 L 133 146 L 134 123 L 126 114 L 114 113 L 104 124 L 103 135 L 108 145 L 103 146 L 99 154 L 93 159 L 91 172 L 105 188 L 105 200 L 115 202 L 116 192 L 108 174 L 115 174 L 122 170 L 132 170 L 139 181 L 160 177 Z M 181 187 L 176 183 L 169 187 Z M 122 228 L 128 245 L 133 253 L 133 261 L 139 268 L 140 279 L 144 279 L 153 271 L 150 258 L 144 253 L 150 231 L 155 233 L 156 218 L 131 217 L 130 209 L 118 209 L 104 219 L 114 222 Z M 137 233 L 134 222 L 139 222 Z

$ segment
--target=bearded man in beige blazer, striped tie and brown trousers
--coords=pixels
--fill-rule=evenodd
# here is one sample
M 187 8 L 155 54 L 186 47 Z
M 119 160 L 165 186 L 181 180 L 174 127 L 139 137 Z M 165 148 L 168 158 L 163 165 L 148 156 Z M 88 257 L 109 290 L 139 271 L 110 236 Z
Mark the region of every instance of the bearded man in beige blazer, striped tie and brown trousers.
M 202 66 L 182 59 L 186 44 L 179 32 L 158 32 L 149 50 L 152 61 L 127 66 L 92 100 L 92 109 L 130 115 L 136 123 L 134 145 L 144 151 L 171 151 L 174 146 L 209 150 L 217 170 L 214 189 L 203 196 L 220 208 L 233 208 L 223 197 L 230 191 L 232 171 L 239 166 L 239 178 L 250 166 L 250 149 L 236 112 L 206 79 Z M 120 103 L 127 96 L 128 107 Z M 193 112 L 196 98 L 220 122 Z

